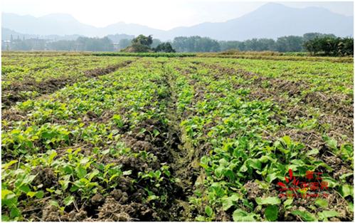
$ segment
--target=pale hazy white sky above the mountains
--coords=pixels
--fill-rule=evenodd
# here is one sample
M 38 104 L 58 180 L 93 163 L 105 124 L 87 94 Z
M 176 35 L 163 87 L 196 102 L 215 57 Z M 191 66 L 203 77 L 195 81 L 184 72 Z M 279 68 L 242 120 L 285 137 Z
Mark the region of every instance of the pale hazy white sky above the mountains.
M 107 26 L 119 21 L 167 30 L 192 26 L 205 21 L 226 21 L 243 16 L 265 1 L 233 0 L 1 0 L 1 11 L 21 15 L 71 14 L 78 21 L 93 26 Z M 353 16 L 352 1 L 280 1 L 297 8 L 320 6 Z

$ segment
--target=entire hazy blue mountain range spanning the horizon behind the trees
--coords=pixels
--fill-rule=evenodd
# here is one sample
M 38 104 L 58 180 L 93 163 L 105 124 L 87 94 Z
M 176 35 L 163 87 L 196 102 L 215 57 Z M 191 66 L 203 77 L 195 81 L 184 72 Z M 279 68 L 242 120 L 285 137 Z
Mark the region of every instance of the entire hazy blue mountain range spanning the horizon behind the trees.
M 196 35 L 218 40 L 245 40 L 302 35 L 307 32 L 334 33 L 337 36 L 353 35 L 352 16 L 343 16 L 323 8 L 295 9 L 275 3 L 265 4 L 249 14 L 226 22 L 206 22 L 196 26 L 177 27 L 169 31 L 123 22 L 97 28 L 82 24 L 67 14 L 50 14 L 36 18 L 3 13 L 1 25 L 3 28 L 33 35 L 106 36 L 125 33 L 137 36 L 152 34 L 154 38 L 161 40 L 172 39 L 176 36 Z

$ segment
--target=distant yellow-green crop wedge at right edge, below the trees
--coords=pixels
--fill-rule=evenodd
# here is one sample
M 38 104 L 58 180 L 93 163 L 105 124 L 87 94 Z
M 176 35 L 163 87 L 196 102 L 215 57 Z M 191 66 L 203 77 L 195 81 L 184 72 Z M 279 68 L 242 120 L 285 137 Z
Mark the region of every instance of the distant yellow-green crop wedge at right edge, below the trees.
M 229 68 L 241 68 L 260 76 L 280 78 L 309 84 L 309 90 L 324 93 L 353 94 L 352 63 L 309 61 L 267 61 L 249 59 L 209 58 L 198 60 Z

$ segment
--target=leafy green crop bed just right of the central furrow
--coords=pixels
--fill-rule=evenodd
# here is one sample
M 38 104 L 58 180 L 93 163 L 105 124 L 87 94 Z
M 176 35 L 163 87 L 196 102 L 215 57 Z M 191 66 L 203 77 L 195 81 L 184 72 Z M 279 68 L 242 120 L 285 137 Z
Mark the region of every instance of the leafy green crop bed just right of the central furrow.
M 311 150 L 307 145 L 292 140 L 294 135 L 270 138 L 270 135 L 277 135 L 285 128 L 307 129 L 290 123 L 287 112 L 272 100 L 250 98 L 253 90 L 252 85 L 248 88 L 250 80 L 238 76 L 238 73 L 231 75 L 206 68 L 211 60 L 190 62 L 184 63 L 184 66 L 180 61 L 173 63 L 176 71 L 171 70 L 171 73 L 175 73 L 179 80 L 175 88 L 179 92 L 177 108 L 182 117 L 182 132 L 186 134 L 185 143 L 194 145 L 195 150 L 203 148 L 199 160 L 201 174 L 195 182 L 195 195 L 190 197 L 191 207 L 200 214 L 196 220 L 351 219 L 351 139 L 337 145 L 337 141 L 324 135 L 326 150 L 342 160 L 339 165 L 348 168 L 337 175 L 336 169 L 340 166 L 334 168 L 330 166 L 330 159 L 322 160 L 320 157 L 324 149 L 321 147 Z M 201 62 L 203 66 L 199 65 Z M 307 68 L 300 69 L 306 71 Z M 349 72 L 345 75 L 349 76 Z M 323 77 L 319 75 L 318 78 Z M 307 171 L 324 172 L 329 193 L 341 195 L 340 199 L 346 202 L 332 204 L 327 199 L 319 198 L 302 203 L 300 199 L 280 198 L 276 183 L 285 180 L 290 169 L 300 177 Z

